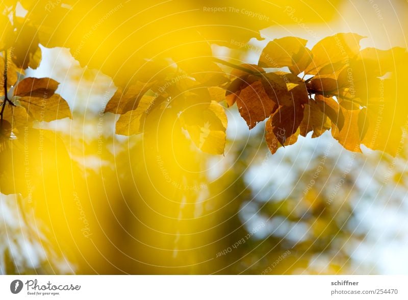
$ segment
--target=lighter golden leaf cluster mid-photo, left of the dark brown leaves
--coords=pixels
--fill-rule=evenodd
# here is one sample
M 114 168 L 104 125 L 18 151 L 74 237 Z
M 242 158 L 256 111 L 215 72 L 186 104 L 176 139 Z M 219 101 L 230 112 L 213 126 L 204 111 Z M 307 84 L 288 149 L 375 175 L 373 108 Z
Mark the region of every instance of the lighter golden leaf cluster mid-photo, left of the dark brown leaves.
M 224 90 L 217 85 L 225 83 L 227 78 L 219 76 L 216 86 L 208 86 L 207 78 L 201 80 L 202 83 L 186 73 L 171 72 L 167 78 L 137 82 L 125 90 L 119 88 L 105 112 L 121 115 L 116 122 L 117 134 L 132 135 L 143 131 L 155 134 L 150 121 L 160 118 L 163 111 L 168 110 L 179 115 L 179 126 L 188 132 L 198 148 L 207 153 L 222 154 L 227 118 L 219 104 L 224 98 Z

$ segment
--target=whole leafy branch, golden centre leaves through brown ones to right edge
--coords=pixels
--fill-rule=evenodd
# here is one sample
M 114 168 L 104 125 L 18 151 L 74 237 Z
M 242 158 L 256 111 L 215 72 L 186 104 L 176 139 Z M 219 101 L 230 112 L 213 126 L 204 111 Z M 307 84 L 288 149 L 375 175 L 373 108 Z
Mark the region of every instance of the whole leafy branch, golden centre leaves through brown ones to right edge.
M 295 143 L 299 134 L 312 132 L 315 138 L 331 130 L 350 151 L 361 152 L 364 144 L 396 155 L 408 115 L 397 109 L 408 55 L 403 48 L 361 50 L 362 38 L 336 34 L 312 49 L 304 39 L 275 39 L 263 49 L 258 65 L 233 65 L 229 78 L 215 59 L 208 61 L 213 71 L 207 76 L 173 73 L 119 89 L 106 112 L 121 114 L 116 133 L 130 135 L 143 131 L 150 111 L 160 116 L 160 110 L 171 108 L 181 113 L 183 128 L 202 151 L 222 154 L 226 117 L 217 102 L 225 99 L 228 107 L 237 103 L 249 129 L 268 118 L 266 142 L 272 154 Z M 267 72 L 284 67 L 290 72 Z

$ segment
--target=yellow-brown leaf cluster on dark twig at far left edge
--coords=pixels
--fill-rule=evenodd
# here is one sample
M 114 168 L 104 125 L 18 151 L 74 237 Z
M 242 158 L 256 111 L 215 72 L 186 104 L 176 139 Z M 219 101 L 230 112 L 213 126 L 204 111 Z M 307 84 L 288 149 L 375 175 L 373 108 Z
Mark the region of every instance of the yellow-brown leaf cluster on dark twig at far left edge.
M 14 7 L 12 7 L 14 8 Z M 33 121 L 53 121 L 71 117 L 67 102 L 55 91 L 59 83 L 50 78 L 25 78 L 25 69 L 35 69 L 41 61 L 38 31 L 27 18 L 0 15 L 4 29 L 0 43 L 2 72 L 1 142 L 18 137 Z M 27 41 L 31 41 L 28 43 Z

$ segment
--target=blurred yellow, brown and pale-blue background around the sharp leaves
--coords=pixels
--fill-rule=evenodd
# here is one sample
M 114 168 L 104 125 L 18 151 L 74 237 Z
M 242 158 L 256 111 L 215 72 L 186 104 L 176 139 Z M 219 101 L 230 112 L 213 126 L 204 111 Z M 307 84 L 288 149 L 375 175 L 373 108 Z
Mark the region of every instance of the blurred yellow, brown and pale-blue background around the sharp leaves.
M 406 1 L 290 2 L 265 16 L 264 40 L 213 45 L 214 56 L 256 64 L 274 38 L 311 48 L 339 32 L 366 36 L 363 48 L 408 48 Z M 46 153 L 30 144 L 41 172 L 22 183 L 9 174 L 29 196 L 2 186 L 0 273 L 408 273 L 406 143 L 395 158 L 351 153 L 326 132 L 271 155 L 264 124 L 249 131 L 236 107 L 223 156 L 174 136 L 171 116 L 150 124 L 149 138 L 115 135 L 118 115 L 103 114 L 112 79 L 67 48 L 41 48 L 27 76 L 60 82 L 73 118 L 36 124 L 55 132 Z

